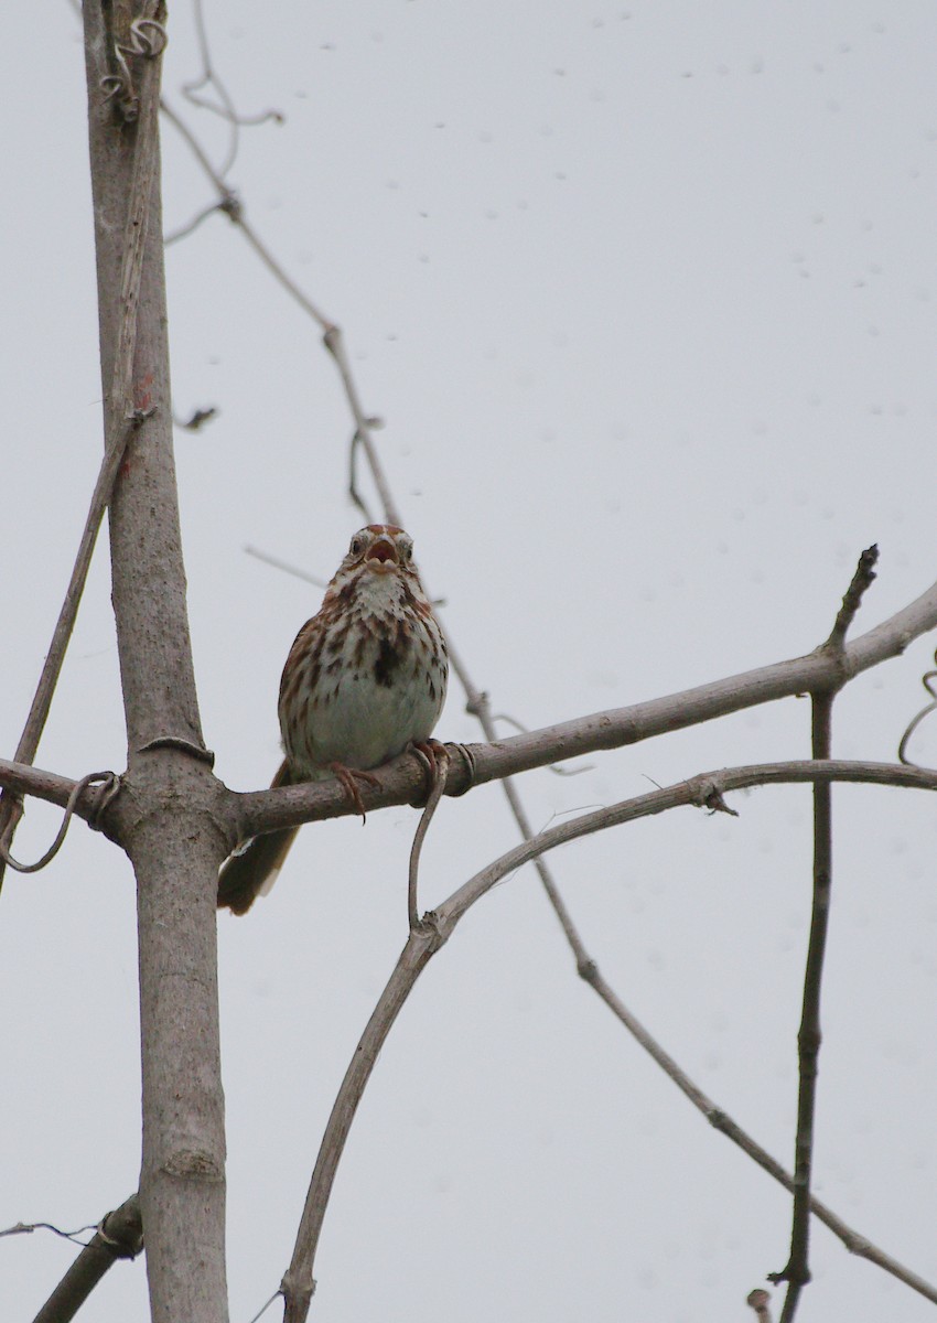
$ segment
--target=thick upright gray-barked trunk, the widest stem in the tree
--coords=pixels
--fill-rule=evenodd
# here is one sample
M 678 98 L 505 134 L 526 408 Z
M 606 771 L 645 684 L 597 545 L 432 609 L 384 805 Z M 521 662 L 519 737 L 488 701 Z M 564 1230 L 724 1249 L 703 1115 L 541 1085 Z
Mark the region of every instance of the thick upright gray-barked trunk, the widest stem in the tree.
M 130 21 L 143 8 L 131 11 L 126 0 L 85 0 L 83 7 L 106 445 L 127 426 L 128 413 L 146 414 L 128 441 L 110 507 L 128 742 L 120 844 L 138 882 L 140 1211 L 155 1323 L 226 1323 L 214 897 L 228 843 L 218 826 L 225 820 L 224 791 L 209 761 L 199 755 L 202 738 L 185 609 L 163 277 L 160 61 L 127 58 L 139 97 L 132 122 L 120 115 L 116 99 L 105 102 L 101 89 L 101 79 L 119 69 L 115 45 L 132 48 Z M 143 16 L 164 17 L 155 5 Z M 152 184 L 143 216 L 134 220 L 143 152 L 154 153 Z M 134 291 L 126 253 L 139 235 L 142 267 Z M 157 747 L 147 749 L 154 741 Z

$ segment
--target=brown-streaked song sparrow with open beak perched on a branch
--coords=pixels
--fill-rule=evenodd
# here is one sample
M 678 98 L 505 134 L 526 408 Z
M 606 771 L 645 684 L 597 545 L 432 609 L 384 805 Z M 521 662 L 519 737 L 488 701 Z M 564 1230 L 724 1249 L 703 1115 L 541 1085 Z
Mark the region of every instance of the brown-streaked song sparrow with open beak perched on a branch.
M 413 540 L 369 524 L 290 648 L 279 685 L 286 758 L 274 786 L 337 775 L 364 814 L 356 778 L 429 740 L 446 697 L 442 630 L 413 564 Z M 273 886 L 298 828 L 254 836 L 224 864 L 218 905 L 246 913 Z

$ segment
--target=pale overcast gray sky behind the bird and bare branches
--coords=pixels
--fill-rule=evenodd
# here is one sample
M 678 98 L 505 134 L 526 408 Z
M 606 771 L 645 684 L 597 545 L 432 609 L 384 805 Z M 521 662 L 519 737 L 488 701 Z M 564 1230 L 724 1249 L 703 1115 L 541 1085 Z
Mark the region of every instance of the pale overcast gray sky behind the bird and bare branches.
M 171 5 L 164 87 L 200 64 Z M 247 128 L 230 172 L 290 274 L 345 329 L 417 557 L 495 709 L 537 726 L 813 648 L 859 552 L 867 628 L 937 577 L 937 11 L 929 0 L 355 5 L 206 0 Z M 101 454 L 78 22 L 16 7 L 0 45 L 0 392 L 12 754 Z M 184 112 L 216 161 L 225 124 Z M 212 201 L 164 126 L 167 232 Z M 275 697 L 361 523 L 351 421 L 315 327 L 224 217 L 167 261 L 189 609 L 217 771 L 278 761 Z M 38 763 L 124 766 L 102 544 Z M 889 758 L 932 640 L 838 703 L 835 751 Z M 504 726 L 508 733 L 508 726 Z M 454 687 L 438 733 L 476 738 Z M 712 767 L 805 757 L 807 704 L 524 778 L 535 826 Z M 922 728 L 915 755 L 937 759 Z M 621 996 L 790 1163 L 810 904 L 806 789 L 736 796 L 564 849 L 557 878 Z M 835 792 L 817 1191 L 932 1281 L 933 807 Z M 56 815 L 30 807 L 34 857 Z M 335 1090 L 405 939 L 416 815 L 308 828 L 247 919 L 222 916 L 232 1318 L 277 1289 Z M 498 787 L 447 802 L 424 905 L 510 847 Z M 0 919 L 0 1226 L 78 1226 L 139 1163 L 132 878 L 75 826 Z M 531 869 L 434 960 L 381 1056 L 326 1222 L 315 1316 L 385 1323 L 752 1315 L 786 1196 L 696 1115 L 576 979 Z M 4 1318 L 73 1257 L 0 1241 Z M 799 1318 L 932 1306 L 814 1232 Z M 89 1306 L 144 1314 L 143 1265 Z M 273 1316 L 277 1316 L 274 1311 Z

